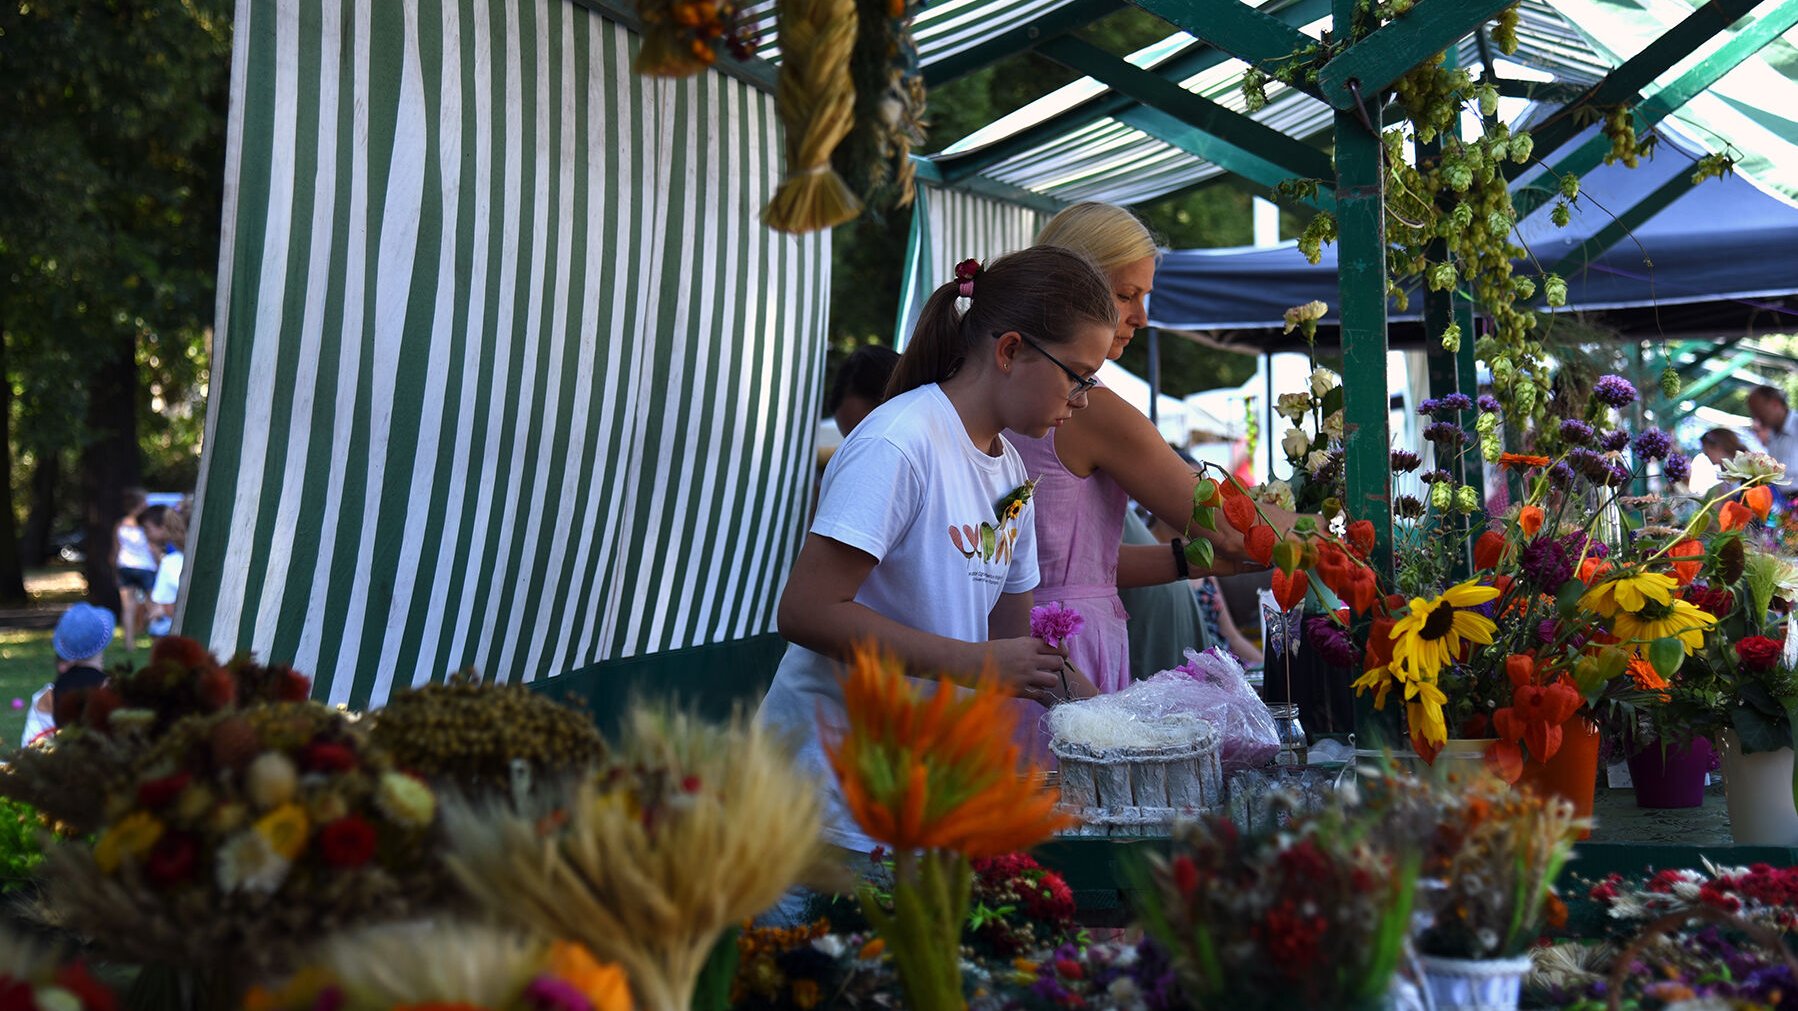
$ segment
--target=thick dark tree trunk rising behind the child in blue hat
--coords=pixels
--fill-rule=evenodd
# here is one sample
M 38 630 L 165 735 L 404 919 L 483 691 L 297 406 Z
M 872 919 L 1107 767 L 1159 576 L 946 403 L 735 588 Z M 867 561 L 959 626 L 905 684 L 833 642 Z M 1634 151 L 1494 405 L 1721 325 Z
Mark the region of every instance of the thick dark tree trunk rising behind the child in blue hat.
M 113 527 L 124 516 L 124 493 L 144 479 L 137 450 L 137 342 L 120 336 L 93 369 L 88 387 L 88 443 L 81 448 L 81 497 L 86 516 L 88 601 L 119 608 L 111 567 Z

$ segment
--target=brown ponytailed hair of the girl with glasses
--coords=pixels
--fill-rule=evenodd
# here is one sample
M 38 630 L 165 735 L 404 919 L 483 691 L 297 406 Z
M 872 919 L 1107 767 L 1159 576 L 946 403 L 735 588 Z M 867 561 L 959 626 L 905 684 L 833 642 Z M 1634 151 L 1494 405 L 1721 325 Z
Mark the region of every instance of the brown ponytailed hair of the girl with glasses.
M 957 308 L 960 282 L 937 288 L 912 331 L 886 399 L 953 376 L 978 342 L 1014 329 L 1041 344 L 1066 344 L 1084 324 L 1115 327 L 1111 282 L 1086 255 L 1061 246 L 1030 246 L 992 261 L 975 275 L 967 311 Z

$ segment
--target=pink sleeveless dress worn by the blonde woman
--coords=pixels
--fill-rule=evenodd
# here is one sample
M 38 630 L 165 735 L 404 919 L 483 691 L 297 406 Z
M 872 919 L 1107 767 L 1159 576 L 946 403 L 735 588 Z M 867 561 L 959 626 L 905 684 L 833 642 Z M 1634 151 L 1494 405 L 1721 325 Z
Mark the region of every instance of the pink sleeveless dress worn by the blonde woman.
M 1043 581 L 1036 603 L 1059 601 L 1081 612 L 1086 626 L 1068 642 L 1068 658 L 1099 685 L 1118 691 L 1131 684 L 1129 628 L 1118 599 L 1118 545 L 1129 495 L 1104 471 L 1079 477 L 1055 455 L 1055 430 L 1041 439 L 1007 432 L 1023 466 L 1036 479 L 1036 565 Z M 1018 700 L 1018 739 L 1041 754 L 1036 738 L 1043 707 Z

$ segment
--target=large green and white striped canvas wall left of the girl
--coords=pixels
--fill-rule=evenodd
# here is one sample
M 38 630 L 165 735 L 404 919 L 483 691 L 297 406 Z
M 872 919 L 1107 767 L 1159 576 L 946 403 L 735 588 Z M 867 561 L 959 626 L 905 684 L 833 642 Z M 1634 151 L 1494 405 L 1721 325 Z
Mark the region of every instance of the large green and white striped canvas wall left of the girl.
M 376 703 L 766 633 L 829 236 L 773 99 L 568 0 L 239 0 L 182 630 Z

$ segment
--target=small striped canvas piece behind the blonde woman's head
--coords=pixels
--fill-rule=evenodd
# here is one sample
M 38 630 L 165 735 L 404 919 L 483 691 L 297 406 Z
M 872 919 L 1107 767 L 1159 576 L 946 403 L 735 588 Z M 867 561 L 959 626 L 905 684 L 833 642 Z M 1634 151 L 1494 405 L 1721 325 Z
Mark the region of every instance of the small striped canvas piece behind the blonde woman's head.
M 1048 218 L 1021 203 L 919 182 L 894 347 L 904 349 L 924 302 L 939 284 L 955 277 L 955 264 L 967 257 L 987 263 L 1027 248 Z

